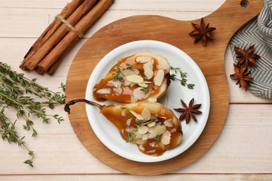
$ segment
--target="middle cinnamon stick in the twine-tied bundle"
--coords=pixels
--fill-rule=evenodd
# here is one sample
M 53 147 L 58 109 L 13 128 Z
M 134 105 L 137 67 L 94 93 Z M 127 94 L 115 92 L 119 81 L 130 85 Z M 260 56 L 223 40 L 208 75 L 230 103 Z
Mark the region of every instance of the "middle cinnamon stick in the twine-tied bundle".
M 67 22 L 72 26 L 75 26 L 77 22 L 89 12 L 97 0 L 85 0 L 77 9 L 68 17 Z M 34 70 L 38 63 L 50 53 L 50 51 L 56 46 L 56 44 L 69 32 L 66 24 L 61 24 L 54 34 L 39 48 L 39 51 L 33 54 L 28 61 L 21 64 L 20 68 L 23 70 Z

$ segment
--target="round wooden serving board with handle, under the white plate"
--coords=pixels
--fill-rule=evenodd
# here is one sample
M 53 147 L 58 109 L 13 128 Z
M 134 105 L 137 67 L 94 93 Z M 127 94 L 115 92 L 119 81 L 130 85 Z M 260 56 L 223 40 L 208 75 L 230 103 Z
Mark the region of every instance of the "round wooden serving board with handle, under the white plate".
M 227 117 L 229 90 L 224 66 L 227 44 L 263 6 L 262 0 L 248 0 L 248 8 L 242 8 L 240 3 L 240 0 L 227 0 L 214 13 L 204 17 L 206 23 L 216 27 L 213 33 L 216 40 L 209 41 L 206 47 L 201 42 L 194 44 L 194 37 L 188 35 L 193 30 L 191 22 L 199 24 L 200 19 L 186 22 L 157 15 L 139 15 L 112 22 L 91 36 L 70 66 L 66 82 L 67 102 L 85 97 L 93 68 L 112 49 L 135 40 L 159 40 L 179 47 L 199 65 L 209 86 L 211 110 L 204 131 L 186 152 L 163 162 L 141 163 L 120 157 L 106 148 L 89 125 L 85 105 L 75 104 L 69 115 L 70 123 L 86 149 L 107 166 L 133 175 L 169 173 L 203 155 L 220 134 Z

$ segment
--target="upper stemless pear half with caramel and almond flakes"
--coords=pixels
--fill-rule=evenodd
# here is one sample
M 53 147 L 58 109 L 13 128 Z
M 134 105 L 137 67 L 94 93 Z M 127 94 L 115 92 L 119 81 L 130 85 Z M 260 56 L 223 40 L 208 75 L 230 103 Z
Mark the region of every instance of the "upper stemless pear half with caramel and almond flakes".
M 93 87 L 93 97 L 98 101 L 156 102 L 170 84 L 169 71 L 167 58 L 151 52 L 121 58 Z

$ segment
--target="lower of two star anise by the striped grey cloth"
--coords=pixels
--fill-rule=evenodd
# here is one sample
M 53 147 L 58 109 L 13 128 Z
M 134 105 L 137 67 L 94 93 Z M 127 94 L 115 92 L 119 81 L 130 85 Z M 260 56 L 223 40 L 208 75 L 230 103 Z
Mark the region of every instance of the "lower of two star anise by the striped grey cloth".
M 236 85 L 239 84 L 240 88 L 243 87 L 245 91 L 248 91 L 250 81 L 253 80 L 252 77 L 248 76 L 251 74 L 251 71 L 248 71 L 246 65 L 243 65 L 241 68 L 239 68 L 238 65 L 234 64 L 234 72 L 234 74 L 230 75 L 230 78 L 237 80 Z

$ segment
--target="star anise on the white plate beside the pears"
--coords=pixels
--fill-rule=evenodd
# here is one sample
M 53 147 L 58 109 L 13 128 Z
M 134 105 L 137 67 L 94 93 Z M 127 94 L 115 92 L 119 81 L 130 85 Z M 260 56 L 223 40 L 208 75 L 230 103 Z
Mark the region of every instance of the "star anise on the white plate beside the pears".
M 179 120 L 183 120 L 185 118 L 186 120 L 186 124 L 188 124 L 190 122 L 190 118 L 192 118 L 193 120 L 195 120 L 195 122 L 197 122 L 197 118 L 195 118 L 194 114 L 201 114 L 202 111 L 198 111 L 197 109 L 199 109 L 199 107 L 201 107 L 202 104 L 195 104 L 192 105 L 194 103 L 195 99 L 192 98 L 192 100 L 190 100 L 189 105 L 187 106 L 185 102 L 183 102 L 183 100 L 181 100 L 181 104 L 183 105 L 184 108 L 178 108 L 178 109 L 174 109 L 175 111 L 181 112 L 181 116 L 179 117 Z

